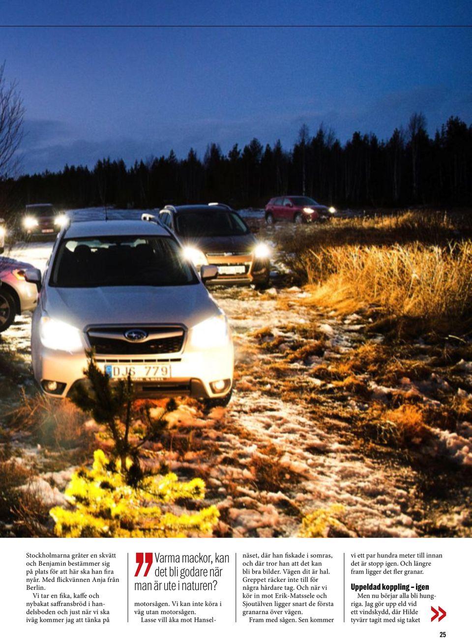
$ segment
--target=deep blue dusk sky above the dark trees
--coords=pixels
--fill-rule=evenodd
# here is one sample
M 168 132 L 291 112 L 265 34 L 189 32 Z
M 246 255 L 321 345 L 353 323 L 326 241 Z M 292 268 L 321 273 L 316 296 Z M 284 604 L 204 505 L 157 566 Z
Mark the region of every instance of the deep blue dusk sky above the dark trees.
M 431 135 L 450 115 L 472 124 L 471 6 L 3 3 L 0 61 L 26 108 L 23 172 L 191 146 L 202 157 L 209 142 L 226 153 L 253 137 L 290 149 L 304 123 L 341 142 L 355 130 L 386 139 L 418 111 Z

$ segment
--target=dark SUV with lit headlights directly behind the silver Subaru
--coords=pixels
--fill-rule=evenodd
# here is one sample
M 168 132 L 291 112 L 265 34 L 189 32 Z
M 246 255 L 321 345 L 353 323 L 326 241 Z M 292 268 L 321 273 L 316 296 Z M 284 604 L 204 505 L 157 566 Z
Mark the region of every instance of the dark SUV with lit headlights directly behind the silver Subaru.
M 168 205 L 159 212 L 159 221 L 177 235 L 197 270 L 218 266 L 216 283 L 269 284 L 269 247 L 226 204 Z

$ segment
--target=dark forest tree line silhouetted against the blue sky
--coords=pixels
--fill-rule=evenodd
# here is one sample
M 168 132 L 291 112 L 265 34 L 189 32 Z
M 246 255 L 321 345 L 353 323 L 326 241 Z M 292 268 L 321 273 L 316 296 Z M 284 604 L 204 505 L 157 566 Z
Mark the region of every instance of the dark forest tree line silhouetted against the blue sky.
M 98 161 L 57 173 L 23 175 L 15 181 L 17 207 L 52 202 L 61 207 L 115 205 L 154 208 L 163 204 L 219 201 L 235 207 L 264 205 L 270 197 L 306 194 L 339 207 L 469 205 L 472 196 L 472 126 L 450 117 L 433 138 L 425 117 L 411 115 L 389 140 L 353 133 L 344 145 L 322 125 L 306 125 L 290 151 L 280 140 L 265 147 L 253 138 L 224 154 L 209 144 L 202 159 L 190 149 L 136 161 Z

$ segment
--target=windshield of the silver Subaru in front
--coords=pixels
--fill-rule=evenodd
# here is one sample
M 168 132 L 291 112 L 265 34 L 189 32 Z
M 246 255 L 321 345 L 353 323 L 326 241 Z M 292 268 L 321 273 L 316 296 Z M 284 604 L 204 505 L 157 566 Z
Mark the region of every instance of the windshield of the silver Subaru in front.
M 182 286 L 198 278 L 172 237 L 80 237 L 64 239 L 51 286 Z

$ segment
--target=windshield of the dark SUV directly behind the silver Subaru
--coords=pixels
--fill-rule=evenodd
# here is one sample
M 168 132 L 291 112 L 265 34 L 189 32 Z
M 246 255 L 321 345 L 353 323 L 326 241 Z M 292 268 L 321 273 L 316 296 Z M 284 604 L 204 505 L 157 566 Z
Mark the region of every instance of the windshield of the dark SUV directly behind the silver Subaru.
M 205 209 L 179 212 L 175 230 L 183 237 L 232 237 L 251 232 L 235 212 Z

